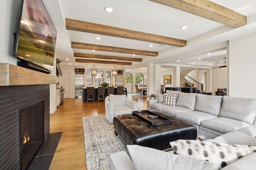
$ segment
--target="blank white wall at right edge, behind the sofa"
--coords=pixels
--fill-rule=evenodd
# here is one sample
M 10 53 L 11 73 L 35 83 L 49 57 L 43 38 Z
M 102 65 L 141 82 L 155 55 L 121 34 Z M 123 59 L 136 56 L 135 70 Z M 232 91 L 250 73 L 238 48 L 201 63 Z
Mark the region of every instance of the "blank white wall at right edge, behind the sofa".
M 229 96 L 256 98 L 256 33 L 229 41 Z

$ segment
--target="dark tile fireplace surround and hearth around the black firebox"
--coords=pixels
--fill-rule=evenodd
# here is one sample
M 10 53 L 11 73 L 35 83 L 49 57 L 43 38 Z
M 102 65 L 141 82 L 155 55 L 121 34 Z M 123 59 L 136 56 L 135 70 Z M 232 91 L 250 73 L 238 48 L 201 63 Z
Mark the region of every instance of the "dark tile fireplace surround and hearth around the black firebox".
M 0 169 L 19 170 L 20 168 L 20 109 L 44 100 L 44 145 L 38 154 L 44 155 L 52 147 L 55 152 L 61 133 L 50 134 L 50 85 L 0 86 Z M 57 139 L 57 140 L 56 140 Z M 48 145 L 48 149 L 47 149 Z M 55 146 L 55 149 L 54 149 Z M 40 153 L 41 152 L 41 153 Z M 53 153 L 54 154 L 54 153 Z M 48 155 L 31 166 L 43 164 L 53 157 Z M 41 156 L 40 156 L 41 157 Z M 36 163 L 36 161 L 38 163 Z M 49 162 L 49 161 L 48 161 Z M 36 163 L 36 164 L 35 164 Z M 31 168 L 30 166 L 30 168 Z M 50 165 L 49 165 L 50 166 Z M 37 168 L 38 169 L 38 168 Z M 40 169 L 40 168 L 39 168 Z

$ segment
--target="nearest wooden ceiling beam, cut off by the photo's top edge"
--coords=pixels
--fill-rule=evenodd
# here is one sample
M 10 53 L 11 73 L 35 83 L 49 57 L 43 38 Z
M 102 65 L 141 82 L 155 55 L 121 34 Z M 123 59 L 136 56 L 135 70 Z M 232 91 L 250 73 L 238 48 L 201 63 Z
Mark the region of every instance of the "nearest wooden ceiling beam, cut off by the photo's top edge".
M 246 25 L 246 16 L 210 0 L 149 0 L 178 10 L 213 20 L 230 27 Z

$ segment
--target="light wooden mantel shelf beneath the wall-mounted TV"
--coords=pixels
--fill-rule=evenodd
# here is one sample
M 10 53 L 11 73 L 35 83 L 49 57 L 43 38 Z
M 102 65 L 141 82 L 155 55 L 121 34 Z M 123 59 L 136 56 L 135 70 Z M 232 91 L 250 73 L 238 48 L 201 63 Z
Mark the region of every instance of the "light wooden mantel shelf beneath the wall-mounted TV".
M 56 83 L 56 76 L 8 63 L 0 63 L 0 86 L 22 86 Z

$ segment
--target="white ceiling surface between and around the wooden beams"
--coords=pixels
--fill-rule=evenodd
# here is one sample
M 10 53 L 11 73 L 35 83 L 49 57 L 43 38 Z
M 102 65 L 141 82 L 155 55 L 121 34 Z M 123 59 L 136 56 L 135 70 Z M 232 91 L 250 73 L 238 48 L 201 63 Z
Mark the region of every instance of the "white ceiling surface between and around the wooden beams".
M 256 32 L 256 0 L 212 0 L 212 2 L 247 16 L 247 25 L 238 28 L 232 28 L 148 0 L 58 0 L 58 2 L 43 0 L 43 2 L 58 31 L 56 56 L 62 62 L 61 66 L 68 66 L 70 63 L 71 66 L 76 67 L 92 67 L 92 63 L 76 63 L 75 52 L 134 57 L 123 53 L 72 49 L 71 41 L 158 52 L 157 57 L 136 55 L 135 57 L 142 58 L 142 62 L 132 62 L 131 66 L 116 65 L 118 69 L 145 68 L 148 62 L 170 66 L 172 64 L 188 64 L 202 66 L 202 68 L 217 66 L 221 65 L 222 63 L 219 61 L 224 61 L 224 57 L 226 57 L 228 39 Z M 114 11 L 106 12 L 104 10 L 106 6 L 112 6 Z M 187 46 L 159 46 L 156 43 L 66 30 L 65 18 L 184 39 L 187 41 Z M 184 25 L 188 28 L 180 29 Z M 96 37 L 101 37 L 101 39 L 97 40 Z M 149 47 L 150 44 L 153 47 Z M 206 53 L 211 53 L 211 55 L 206 55 Z M 66 59 L 69 60 L 66 61 Z M 95 65 L 100 69 L 113 67 L 110 64 Z

